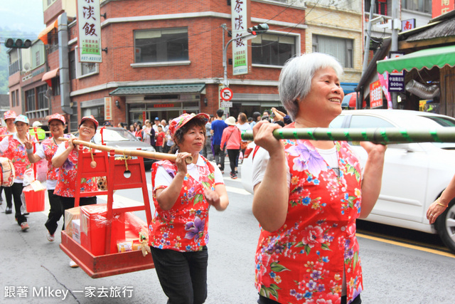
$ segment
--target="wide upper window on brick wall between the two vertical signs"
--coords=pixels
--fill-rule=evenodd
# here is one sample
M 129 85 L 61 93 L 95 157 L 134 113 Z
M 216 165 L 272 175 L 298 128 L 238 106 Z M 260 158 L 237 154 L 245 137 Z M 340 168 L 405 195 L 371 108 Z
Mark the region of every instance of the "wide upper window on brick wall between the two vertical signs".
M 134 62 L 188 61 L 188 28 L 134 31 Z

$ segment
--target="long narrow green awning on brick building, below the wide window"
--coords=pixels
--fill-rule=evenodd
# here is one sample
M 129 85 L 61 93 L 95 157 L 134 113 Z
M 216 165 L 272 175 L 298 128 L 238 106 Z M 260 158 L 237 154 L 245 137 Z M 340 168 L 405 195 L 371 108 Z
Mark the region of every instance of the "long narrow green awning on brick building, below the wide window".
M 152 95 L 152 94 L 183 94 L 201 93 L 205 83 L 191 83 L 188 85 L 138 85 L 135 87 L 121 87 L 113 90 L 109 95 Z

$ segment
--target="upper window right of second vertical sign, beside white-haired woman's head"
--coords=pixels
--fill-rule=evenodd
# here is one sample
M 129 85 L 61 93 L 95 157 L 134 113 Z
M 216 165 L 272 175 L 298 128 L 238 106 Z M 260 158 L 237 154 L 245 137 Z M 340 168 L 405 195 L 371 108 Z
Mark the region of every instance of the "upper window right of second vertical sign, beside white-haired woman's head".
M 251 41 L 252 63 L 263 65 L 284 65 L 296 54 L 296 37 L 263 33 Z

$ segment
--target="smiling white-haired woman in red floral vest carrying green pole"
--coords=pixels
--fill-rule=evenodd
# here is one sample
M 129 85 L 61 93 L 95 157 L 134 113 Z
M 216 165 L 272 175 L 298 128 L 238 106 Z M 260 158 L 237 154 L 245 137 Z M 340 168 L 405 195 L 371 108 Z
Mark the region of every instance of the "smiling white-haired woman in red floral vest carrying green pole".
M 279 77 L 294 121 L 287 128 L 328 127 L 341 113 L 342 73 L 323 53 L 291 58 Z M 347 142 L 277 140 L 277 128 L 264 120 L 253 127 L 262 147 L 253 160 L 258 303 L 361 303 L 355 219 L 378 199 L 386 147 L 363 142 L 362 170 Z

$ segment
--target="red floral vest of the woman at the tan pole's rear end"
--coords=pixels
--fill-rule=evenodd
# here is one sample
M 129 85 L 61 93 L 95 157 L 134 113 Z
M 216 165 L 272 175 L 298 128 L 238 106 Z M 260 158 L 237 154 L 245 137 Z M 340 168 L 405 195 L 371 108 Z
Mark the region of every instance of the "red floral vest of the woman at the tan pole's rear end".
M 68 149 L 69 142 L 64 142 L 63 147 Z M 84 147 L 84 150 L 89 148 Z M 54 194 L 58 196 L 74 197 L 76 191 L 76 174 L 77 174 L 77 157 L 79 155 L 78 149 L 71 150 L 68 159 L 65 160 L 58 173 L 58 183 L 55 187 Z M 94 192 L 98 191 L 97 182 L 95 177 L 86 179 L 82 177 L 80 184 L 80 192 Z M 77 185 L 79 187 L 79 184 Z

